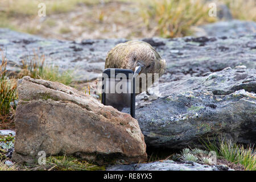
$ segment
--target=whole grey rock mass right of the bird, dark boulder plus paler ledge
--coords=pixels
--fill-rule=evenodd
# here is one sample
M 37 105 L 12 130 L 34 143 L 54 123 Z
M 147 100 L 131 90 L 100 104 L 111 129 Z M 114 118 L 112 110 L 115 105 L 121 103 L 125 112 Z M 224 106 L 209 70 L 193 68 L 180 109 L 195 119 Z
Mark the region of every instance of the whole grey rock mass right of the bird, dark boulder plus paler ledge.
M 167 82 L 159 92 L 158 100 L 137 98 L 136 118 L 147 146 L 200 147 L 202 140 L 221 136 L 256 143 L 255 69 L 226 68 Z

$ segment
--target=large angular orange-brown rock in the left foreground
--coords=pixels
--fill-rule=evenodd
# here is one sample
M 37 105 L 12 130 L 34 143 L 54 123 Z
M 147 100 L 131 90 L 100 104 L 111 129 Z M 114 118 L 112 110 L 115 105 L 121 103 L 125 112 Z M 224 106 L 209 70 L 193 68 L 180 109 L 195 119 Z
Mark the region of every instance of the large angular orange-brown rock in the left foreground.
M 147 159 L 146 144 L 136 119 L 89 95 L 44 80 L 18 81 L 13 160 L 36 162 L 46 155 L 78 155 L 99 164 Z

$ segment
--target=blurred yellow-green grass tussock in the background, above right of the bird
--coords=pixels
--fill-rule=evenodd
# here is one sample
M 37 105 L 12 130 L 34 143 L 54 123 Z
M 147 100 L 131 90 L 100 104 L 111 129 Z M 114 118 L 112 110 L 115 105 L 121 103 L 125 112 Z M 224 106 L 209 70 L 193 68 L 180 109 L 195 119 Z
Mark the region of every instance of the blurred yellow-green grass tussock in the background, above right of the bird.
M 141 7 L 146 26 L 164 38 L 190 35 L 191 26 L 216 19 L 208 15 L 208 4 L 201 0 L 152 0 Z

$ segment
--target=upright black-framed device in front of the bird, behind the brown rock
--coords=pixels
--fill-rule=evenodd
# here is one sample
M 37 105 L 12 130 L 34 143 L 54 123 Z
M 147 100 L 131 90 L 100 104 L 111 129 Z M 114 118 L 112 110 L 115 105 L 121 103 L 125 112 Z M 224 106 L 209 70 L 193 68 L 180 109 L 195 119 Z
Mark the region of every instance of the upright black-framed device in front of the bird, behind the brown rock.
M 135 78 L 131 69 L 108 68 L 102 73 L 101 103 L 122 111 L 130 107 L 135 118 Z

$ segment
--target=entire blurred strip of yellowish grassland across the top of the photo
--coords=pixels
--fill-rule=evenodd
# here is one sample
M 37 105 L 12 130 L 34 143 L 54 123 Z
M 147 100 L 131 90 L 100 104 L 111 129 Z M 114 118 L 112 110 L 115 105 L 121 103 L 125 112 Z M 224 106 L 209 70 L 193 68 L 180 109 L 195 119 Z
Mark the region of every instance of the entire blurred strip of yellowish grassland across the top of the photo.
M 38 16 L 39 3 L 46 16 Z M 210 3 L 217 16 L 209 16 Z M 220 20 L 256 21 L 256 0 L 1 0 L 0 27 L 63 40 L 193 35 Z

